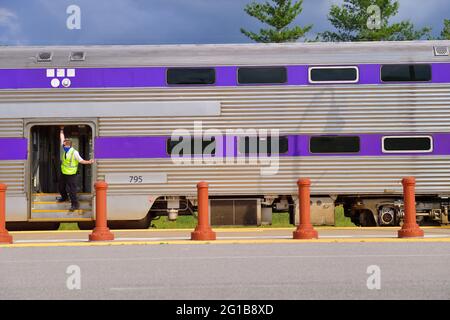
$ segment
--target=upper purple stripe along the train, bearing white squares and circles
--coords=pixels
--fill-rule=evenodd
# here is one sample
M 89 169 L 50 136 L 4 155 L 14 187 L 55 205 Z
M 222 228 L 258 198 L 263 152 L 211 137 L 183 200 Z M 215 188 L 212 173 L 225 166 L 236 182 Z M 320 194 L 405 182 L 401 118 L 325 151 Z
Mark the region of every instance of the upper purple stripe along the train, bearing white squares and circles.
M 380 84 L 380 64 L 359 64 L 359 84 Z M 450 63 L 433 63 L 430 83 L 450 83 Z M 238 86 L 237 66 L 216 66 L 212 86 Z M 308 66 L 287 66 L 288 81 L 308 82 Z M 259 84 L 263 85 L 264 84 Z M 0 69 L 0 89 L 168 87 L 165 67 Z

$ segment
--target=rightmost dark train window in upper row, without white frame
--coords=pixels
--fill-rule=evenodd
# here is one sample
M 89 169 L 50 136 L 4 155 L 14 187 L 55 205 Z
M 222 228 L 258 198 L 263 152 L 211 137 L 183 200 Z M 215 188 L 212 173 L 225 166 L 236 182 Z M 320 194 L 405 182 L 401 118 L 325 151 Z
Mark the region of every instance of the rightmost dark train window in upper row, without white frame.
M 388 64 L 381 67 L 381 81 L 431 81 L 429 64 Z

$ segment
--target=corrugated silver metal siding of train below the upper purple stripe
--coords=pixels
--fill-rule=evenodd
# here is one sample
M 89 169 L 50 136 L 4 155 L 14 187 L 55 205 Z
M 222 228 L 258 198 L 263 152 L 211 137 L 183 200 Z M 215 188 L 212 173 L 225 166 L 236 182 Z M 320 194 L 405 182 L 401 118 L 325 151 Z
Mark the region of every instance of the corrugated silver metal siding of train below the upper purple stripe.
M 202 120 L 204 129 L 268 128 L 280 129 L 280 134 L 426 133 L 449 132 L 450 128 L 449 84 L 9 91 L 0 97 L 0 101 L 15 102 L 75 100 L 221 101 L 219 117 L 101 118 L 98 128 L 101 136 L 170 135 L 174 129 L 192 129 L 194 120 Z M 5 136 L 22 136 L 21 120 L 1 123 L 4 126 L 0 130 L 9 130 Z M 261 177 L 258 167 L 180 167 L 170 163 L 170 159 L 99 161 L 98 166 L 99 174 L 146 170 L 168 173 L 167 185 L 111 185 L 110 192 L 116 194 L 195 194 L 195 184 L 200 179 L 211 183 L 212 194 L 294 194 L 295 181 L 301 176 L 314 181 L 313 192 L 324 194 L 382 193 L 385 189 L 400 192 L 399 180 L 404 175 L 417 177 L 418 192 L 450 190 L 450 160 L 437 157 L 317 157 L 280 161 L 280 172 L 274 177 Z M 23 189 L 23 178 L 16 188 Z

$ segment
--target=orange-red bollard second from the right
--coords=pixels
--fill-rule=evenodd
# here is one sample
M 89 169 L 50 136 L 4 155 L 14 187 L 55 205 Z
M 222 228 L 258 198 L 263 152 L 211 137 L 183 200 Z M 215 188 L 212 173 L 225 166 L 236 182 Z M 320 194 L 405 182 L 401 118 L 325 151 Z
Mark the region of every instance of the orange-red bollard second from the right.
M 300 223 L 294 231 L 294 239 L 317 239 L 319 237 L 311 224 L 310 191 L 311 181 L 308 178 L 298 179 L 298 197 L 300 200 Z

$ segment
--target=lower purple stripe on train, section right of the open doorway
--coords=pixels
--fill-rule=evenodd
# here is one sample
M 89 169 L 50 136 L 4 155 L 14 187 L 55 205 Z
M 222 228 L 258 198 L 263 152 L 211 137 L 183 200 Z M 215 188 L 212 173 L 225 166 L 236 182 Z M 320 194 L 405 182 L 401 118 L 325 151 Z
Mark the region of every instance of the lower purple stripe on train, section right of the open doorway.
M 392 136 L 411 136 L 408 134 L 392 134 Z M 450 133 L 428 134 L 433 138 L 433 151 L 420 153 L 383 153 L 381 134 L 362 134 L 360 137 L 360 152 L 339 154 L 313 154 L 309 151 L 311 135 L 289 135 L 288 152 L 280 156 L 424 156 L 450 155 Z M 316 136 L 316 135 L 315 135 Z M 355 136 L 345 134 L 339 136 Z M 95 157 L 97 159 L 126 159 L 126 158 L 170 158 L 167 153 L 166 136 L 158 137 L 98 137 L 95 139 Z M 216 157 L 242 156 L 238 152 L 237 137 L 224 136 L 223 147 L 216 152 Z M 225 140 L 226 139 L 226 140 Z M 226 143 L 227 142 L 227 143 Z

